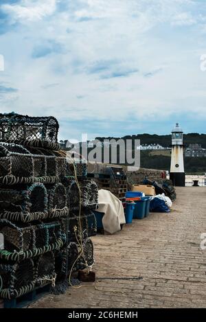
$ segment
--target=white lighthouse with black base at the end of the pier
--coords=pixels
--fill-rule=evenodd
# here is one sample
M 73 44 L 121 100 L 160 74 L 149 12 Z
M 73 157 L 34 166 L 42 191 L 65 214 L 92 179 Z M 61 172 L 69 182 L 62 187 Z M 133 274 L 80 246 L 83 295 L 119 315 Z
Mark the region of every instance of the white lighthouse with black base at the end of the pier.
M 185 170 L 183 159 L 183 130 L 176 123 L 172 130 L 172 155 L 170 165 L 170 180 L 177 187 L 185 187 Z

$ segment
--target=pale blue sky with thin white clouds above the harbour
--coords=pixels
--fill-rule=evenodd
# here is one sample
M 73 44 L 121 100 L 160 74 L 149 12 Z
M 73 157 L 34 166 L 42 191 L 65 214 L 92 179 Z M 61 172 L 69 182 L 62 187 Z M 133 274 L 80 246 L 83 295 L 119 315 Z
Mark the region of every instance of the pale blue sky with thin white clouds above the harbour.
M 1 0 L 0 112 L 59 139 L 205 133 L 205 0 Z

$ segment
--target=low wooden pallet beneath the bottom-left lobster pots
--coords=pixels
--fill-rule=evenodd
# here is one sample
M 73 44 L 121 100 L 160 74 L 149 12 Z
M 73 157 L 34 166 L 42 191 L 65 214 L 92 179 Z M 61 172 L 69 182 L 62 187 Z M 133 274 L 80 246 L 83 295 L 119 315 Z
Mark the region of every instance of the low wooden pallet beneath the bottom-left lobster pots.
M 51 291 L 51 284 L 47 284 L 45 286 L 39 286 L 35 288 L 31 292 L 28 292 L 17 299 L 4 299 L 3 300 L 3 308 L 23 308 L 25 306 L 30 305 L 37 299 L 40 299 L 47 293 Z

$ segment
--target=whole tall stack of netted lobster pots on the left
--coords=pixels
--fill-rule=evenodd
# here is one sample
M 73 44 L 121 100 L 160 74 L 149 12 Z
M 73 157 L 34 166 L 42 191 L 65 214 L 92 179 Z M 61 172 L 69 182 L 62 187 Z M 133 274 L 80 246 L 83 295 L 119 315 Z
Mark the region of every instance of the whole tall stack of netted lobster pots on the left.
M 97 192 L 86 163 L 69 162 L 57 135 L 54 117 L 0 114 L 0 298 L 93 264 Z

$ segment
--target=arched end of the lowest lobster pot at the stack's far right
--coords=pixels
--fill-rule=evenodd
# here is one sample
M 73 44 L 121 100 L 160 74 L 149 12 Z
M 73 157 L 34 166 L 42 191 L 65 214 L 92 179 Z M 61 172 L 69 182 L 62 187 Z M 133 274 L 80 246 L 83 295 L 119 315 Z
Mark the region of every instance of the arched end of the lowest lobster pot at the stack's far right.
M 90 238 L 84 240 L 83 242 L 83 252 L 78 259 L 78 269 L 87 268 L 87 266 L 92 266 L 94 264 L 93 258 L 93 242 Z

